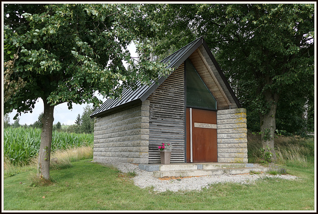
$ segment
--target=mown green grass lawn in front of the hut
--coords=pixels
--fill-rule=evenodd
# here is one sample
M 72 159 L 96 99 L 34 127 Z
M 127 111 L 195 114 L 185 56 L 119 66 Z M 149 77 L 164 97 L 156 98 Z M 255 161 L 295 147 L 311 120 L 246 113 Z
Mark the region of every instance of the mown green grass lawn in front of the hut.
M 51 170 L 49 186 L 32 185 L 30 172 L 5 178 L 3 210 L 304 210 L 315 209 L 314 163 L 284 166 L 302 179 L 263 179 L 256 184 L 213 184 L 202 191 L 157 193 L 133 184 L 114 168 L 80 160 Z M 35 172 L 35 171 L 34 171 Z

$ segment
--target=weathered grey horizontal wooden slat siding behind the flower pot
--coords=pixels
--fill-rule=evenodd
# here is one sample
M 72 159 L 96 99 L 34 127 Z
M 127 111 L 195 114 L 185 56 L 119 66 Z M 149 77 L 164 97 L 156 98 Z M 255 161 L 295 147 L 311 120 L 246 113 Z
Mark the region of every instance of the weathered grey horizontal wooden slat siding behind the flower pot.
M 149 163 L 160 163 L 158 146 L 171 143 L 170 162 L 184 162 L 185 92 L 182 63 L 147 99 L 149 106 Z

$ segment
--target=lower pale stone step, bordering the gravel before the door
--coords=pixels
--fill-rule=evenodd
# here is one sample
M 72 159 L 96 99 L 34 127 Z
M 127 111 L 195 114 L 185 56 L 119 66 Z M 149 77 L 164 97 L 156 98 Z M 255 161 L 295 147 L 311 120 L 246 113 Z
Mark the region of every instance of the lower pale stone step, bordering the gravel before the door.
M 154 171 L 155 177 L 189 177 L 189 176 L 206 176 L 206 175 L 221 175 L 221 174 L 244 174 L 250 171 L 265 172 L 265 167 L 240 167 L 240 168 L 218 168 L 218 169 L 194 169 L 194 170 L 174 170 L 174 171 Z

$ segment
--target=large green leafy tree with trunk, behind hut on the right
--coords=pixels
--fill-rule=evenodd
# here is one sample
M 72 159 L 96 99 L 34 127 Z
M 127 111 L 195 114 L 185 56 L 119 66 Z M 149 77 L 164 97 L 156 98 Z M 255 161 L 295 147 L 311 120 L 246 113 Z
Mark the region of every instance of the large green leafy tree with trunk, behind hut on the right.
M 158 53 L 204 36 L 240 103 L 258 118 L 262 147 L 275 160 L 277 110 L 281 116 L 283 111 L 299 116 L 291 110 L 294 104 L 313 104 L 314 4 L 168 4 L 149 9 L 158 11 L 155 20 L 162 23 Z M 297 116 L 289 122 L 293 120 Z

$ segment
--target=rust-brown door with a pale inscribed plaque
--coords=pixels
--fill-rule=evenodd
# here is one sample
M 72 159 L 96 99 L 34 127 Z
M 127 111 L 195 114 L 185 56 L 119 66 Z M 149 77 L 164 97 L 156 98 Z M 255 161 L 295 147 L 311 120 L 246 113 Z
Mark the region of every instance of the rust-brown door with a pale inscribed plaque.
M 217 162 L 217 112 L 187 107 L 186 139 L 186 162 Z

